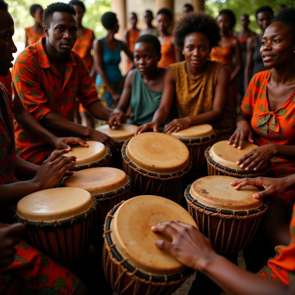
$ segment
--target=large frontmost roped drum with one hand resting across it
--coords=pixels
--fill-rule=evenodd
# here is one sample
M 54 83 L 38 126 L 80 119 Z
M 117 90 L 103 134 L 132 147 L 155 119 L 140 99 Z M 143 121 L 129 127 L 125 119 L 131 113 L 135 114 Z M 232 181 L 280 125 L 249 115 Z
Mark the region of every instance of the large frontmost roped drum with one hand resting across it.
M 169 295 L 193 270 L 155 245 L 167 237 L 151 230 L 168 220 L 196 223 L 181 206 L 158 196 L 137 196 L 114 207 L 104 224 L 103 268 L 118 294 Z

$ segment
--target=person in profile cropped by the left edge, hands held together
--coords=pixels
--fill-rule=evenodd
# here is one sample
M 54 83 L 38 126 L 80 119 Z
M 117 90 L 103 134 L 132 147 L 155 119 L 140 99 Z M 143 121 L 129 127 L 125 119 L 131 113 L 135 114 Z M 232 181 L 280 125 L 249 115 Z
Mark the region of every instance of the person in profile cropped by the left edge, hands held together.
M 1 76 L 8 74 L 12 53 L 17 51 L 12 41 L 14 22 L 7 8 L 0 0 Z M 66 150 L 51 156 L 41 167 L 17 157 L 12 109 L 12 99 L 0 83 L 0 203 L 3 211 L 8 203 L 27 194 L 56 186 L 76 164 L 75 157 L 63 156 Z M 15 176 L 33 179 L 18 181 Z M 87 294 L 86 287 L 73 273 L 20 240 L 23 224 L 3 225 L 5 213 L 0 212 L 0 294 Z

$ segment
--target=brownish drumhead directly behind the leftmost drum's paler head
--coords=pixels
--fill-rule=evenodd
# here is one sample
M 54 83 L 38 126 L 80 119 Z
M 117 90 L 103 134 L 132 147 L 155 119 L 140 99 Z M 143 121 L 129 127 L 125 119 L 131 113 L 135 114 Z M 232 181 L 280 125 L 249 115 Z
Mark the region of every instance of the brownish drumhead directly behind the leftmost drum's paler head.
M 122 170 L 97 167 L 77 171 L 72 176 L 66 176 L 63 179 L 63 186 L 85 189 L 91 195 L 98 195 L 118 190 L 128 181 L 126 173 Z

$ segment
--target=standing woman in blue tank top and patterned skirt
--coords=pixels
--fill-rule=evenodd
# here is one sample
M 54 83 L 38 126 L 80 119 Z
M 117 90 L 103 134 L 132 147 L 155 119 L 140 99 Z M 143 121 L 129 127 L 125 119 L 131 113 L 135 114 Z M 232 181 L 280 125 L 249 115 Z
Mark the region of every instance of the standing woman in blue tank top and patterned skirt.
M 124 50 L 132 61 L 133 54 L 124 42 L 114 38 L 119 30 L 116 14 L 106 12 L 101 17 L 101 22 L 107 33 L 105 37 L 94 40 L 94 66 L 98 73 L 95 83 L 101 103 L 114 108 L 119 101 L 125 79 L 119 69 L 120 52 Z M 107 122 L 100 122 L 100 124 L 107 124 Z

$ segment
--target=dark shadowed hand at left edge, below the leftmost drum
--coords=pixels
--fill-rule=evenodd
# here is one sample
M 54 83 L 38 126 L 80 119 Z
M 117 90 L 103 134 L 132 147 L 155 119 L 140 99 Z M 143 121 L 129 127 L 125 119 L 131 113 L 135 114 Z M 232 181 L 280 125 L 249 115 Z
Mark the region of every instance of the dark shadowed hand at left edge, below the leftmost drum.
M 14 254 L 17 252 L 15 246 L 20 242 L 20 235 L 23 231 L 24 224 L 22 223 L 0 227 L 0 268 L 14 261 Z

